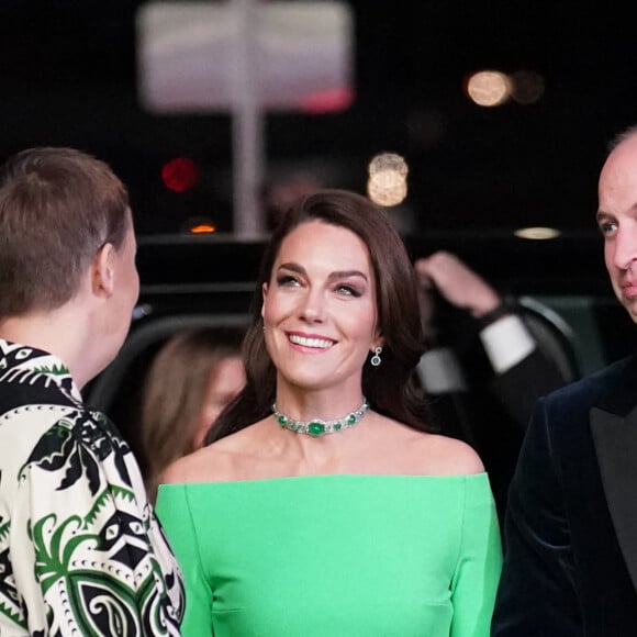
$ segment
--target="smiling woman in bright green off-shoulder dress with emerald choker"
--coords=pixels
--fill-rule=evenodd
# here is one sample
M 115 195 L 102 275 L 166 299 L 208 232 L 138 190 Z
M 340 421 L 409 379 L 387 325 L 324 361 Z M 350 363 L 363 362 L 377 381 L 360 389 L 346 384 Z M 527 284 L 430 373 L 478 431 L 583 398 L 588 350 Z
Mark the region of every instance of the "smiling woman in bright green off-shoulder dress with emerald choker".
M 416 280 L 384 213 L 323 190 L 264 254 L 247 383 L 157 512 L 185 636 L 489 635 L 501 546 L 489 479 L 426 422 Z

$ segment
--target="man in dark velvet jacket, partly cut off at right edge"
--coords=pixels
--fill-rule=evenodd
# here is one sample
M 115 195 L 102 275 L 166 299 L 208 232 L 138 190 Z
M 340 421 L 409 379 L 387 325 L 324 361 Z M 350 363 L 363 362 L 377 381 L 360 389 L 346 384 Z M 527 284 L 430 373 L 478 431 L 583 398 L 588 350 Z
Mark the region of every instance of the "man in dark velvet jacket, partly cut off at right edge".
M 637 322 L 637 126 L 610 148 L 597 224 Z M 504 541 L 492 636 L 637 635 L 637 355 L 536 403 Z

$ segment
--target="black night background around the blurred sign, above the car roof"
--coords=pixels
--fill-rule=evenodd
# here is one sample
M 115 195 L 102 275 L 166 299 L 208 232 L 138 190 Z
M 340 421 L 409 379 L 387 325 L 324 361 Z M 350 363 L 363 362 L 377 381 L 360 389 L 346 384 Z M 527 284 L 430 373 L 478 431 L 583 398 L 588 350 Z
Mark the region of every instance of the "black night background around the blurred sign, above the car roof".
M 138 105 L 138 1 L 3 0 L 0 158 L 34 145 L 77 146 L 130 187 L 141 235 L 192 216 L 232 231 L 228 114 L 152 115 Z M 364 191 L 380 150 L 411 167 L 405 204 L 420 231 L 522 224 L 594 232 L 608 138 L 637 122 L 633 21 L 614 2 L 360 0 L 357 99 L 345 112 L 267 118 L 268 170 L 332 166 L 328 186 Z M 626 9 L 627 10 L 627 9 Z M 481 109 L 462 93 L 479 68 L 535 70 L 540 102 Z M 197 186 L 167 190 L 161 166 L 187 156 Z

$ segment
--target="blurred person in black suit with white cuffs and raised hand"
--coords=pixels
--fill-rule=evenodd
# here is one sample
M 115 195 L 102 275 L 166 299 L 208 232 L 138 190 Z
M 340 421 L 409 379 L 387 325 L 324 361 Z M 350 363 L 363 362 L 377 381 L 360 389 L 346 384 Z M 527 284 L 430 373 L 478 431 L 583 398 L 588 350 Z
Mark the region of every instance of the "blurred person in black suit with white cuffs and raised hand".
M 417 372 L 442 433 L 479 452 L 501 522 L 536 399 L 569 378 L 524 313 L 458 256 L 415 261 L 427 350 Z

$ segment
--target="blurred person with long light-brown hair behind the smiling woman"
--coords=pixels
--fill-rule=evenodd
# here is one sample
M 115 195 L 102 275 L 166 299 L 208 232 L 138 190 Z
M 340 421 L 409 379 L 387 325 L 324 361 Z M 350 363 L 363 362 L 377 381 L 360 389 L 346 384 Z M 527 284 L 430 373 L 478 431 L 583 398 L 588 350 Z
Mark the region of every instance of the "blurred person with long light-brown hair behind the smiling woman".
M 245 384 L 242 327 L 176 333 L 159 349 L 142 392 L 139 462 L 152 501 L 159 476 L 203 446 L 223 407 Z

